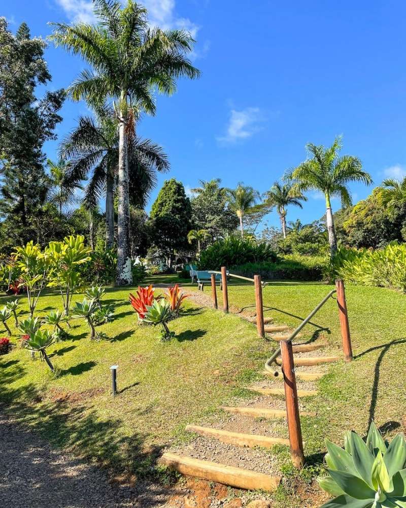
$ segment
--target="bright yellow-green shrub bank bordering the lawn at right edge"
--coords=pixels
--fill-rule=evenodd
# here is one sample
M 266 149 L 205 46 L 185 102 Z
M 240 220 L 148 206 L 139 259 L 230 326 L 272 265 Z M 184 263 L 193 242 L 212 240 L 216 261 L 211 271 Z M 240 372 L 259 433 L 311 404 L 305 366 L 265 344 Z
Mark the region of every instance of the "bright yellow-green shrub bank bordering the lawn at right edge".
M 347 282 L 406 291 L 406 244 L 383 249 L 340 248 L 331 260 L 331 277 Z

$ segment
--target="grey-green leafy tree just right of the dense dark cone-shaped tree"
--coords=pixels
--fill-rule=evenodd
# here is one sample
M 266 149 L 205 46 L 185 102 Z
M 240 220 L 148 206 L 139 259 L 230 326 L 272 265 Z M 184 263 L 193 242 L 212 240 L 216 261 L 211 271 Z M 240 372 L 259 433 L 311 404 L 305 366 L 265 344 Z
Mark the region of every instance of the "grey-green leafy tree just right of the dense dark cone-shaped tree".
M 200 187 L 192 189 L 192 223 L 196 229 L 209 231 L 213 240 L 224 238 L 238 226 L 238 217 L 230 209 L 227 189 L 221 180 L 199 180 Z

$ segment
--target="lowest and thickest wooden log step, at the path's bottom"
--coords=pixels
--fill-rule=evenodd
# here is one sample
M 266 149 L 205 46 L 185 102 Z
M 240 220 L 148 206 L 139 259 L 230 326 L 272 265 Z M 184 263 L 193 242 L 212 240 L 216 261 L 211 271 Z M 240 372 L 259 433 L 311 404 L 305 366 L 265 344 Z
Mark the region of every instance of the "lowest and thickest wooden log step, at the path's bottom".
M 193 459 L 173 453 L 164 453 L 160 462 L 182 474 L 222 483 L 238 489 L 262 489 L 267 492 L 274 492 L 281 482 L 281 477 L 272 477 L 249 469 L 227 466 L 208 460 Z

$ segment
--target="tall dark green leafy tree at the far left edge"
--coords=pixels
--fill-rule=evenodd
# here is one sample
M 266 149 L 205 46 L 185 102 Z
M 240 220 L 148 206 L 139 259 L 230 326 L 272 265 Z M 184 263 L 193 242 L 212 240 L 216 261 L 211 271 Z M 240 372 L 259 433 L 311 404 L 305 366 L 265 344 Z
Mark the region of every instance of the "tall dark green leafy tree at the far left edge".
M 14 36 L 0 18 L 0 214 L 14 243 L 36 237 L 37 217 L 49 192 L 43 145 L 55 139 L 64 91 L 36 96 L 51 76 L 44 58 L 45 42 L 30 38 L 23 23 Z

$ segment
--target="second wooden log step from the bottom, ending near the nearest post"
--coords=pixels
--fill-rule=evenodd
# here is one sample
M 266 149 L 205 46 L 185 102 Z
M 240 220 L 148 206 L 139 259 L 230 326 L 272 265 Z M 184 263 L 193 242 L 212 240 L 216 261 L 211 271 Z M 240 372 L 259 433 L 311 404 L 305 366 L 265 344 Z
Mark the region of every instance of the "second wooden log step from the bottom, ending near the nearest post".
M 286 446 L 289 446 L 289 439 L 279 437 L 242 434 L 241 432 L 229 432 L 228 430 L 199 427 L 198 425 L 186 425 L 186 430 L 188 432 L 196 432 L 200 436 L 215 437 L 223 443 L 236 444 L 237 446 L 248 446 L 250 448 L 254 446 L 272 448 L 275 444 L 286 444 Z

